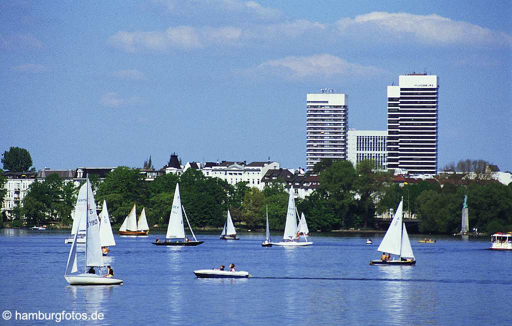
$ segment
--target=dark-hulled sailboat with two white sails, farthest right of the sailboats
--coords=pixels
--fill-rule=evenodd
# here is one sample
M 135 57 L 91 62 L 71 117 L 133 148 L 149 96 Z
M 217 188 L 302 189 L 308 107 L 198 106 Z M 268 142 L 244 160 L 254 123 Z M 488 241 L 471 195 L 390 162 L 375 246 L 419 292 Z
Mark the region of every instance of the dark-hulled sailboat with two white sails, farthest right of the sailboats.
M 402 222 L 402 215 L 403 198 L 400 201 L 398 208 L 396 209 L 388 231 L 384 235 L 380 246 L 377 248 L 377 251 L 397 255 L 398 258 L 391 260 L 371 260 L 370 265 L 416 265 L 416 260 L 414 259 L 413 249 L 411 248 L 411 242 L 409 241 L 406 225 Z

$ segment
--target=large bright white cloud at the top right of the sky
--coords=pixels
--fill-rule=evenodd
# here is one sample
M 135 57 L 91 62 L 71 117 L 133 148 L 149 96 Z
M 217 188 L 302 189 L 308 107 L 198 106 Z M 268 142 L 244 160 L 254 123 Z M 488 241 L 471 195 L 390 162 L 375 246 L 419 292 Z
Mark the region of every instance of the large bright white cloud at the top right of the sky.
M 351 28 L 378 28 L 391 33 L 409 33 L 426 42 L 441 44 L 490 44 L 511 45 L 512 37 L 504 32 L 456 21 L 436 14 L 415 15 L 410 13 L 371 12 L 337 21 L 339 31 Z

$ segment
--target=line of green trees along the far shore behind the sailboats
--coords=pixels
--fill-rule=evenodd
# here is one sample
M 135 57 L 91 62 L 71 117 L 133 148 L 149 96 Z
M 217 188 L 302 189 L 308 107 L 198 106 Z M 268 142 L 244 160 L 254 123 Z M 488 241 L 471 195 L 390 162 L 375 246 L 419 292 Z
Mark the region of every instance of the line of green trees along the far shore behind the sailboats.
M 151 158 L 145 165 L 150 164 Z M 318 188 L 305 199 L 297 199 L 296 206 L 305 213 L 311 230 L 373 229 L 376 214 L 395 210 L 403 198 L 404 211 L 417 215 L 420 232 L 451 234 L 460 230 L 462 203 L 467 195 L 471 228 L 510 231 L 512 184 L 505 186 L 492 180 L 492 174 L 482 169 L 483 165 L 488 164 L 481 160 L 460 161 L 445 167 L 436 177 L 440 182 L 400 186 L 393 183 L 392 173 L 376 169 L 374 161 L 361 161 L 354 167 L 349 161 L 323 160 L 311 171 L 318 175 Z M 288 202 L 285 180 L 275 180 L 259 190 L 247 187 L 246 182 L 231 185 L 188 169 L 181 176 L 167 174 L 145 181 L 140 170 L 123 166 L 110 172 L 103 182 L 99 182 L 98 176 L 89 177 L 97 203 L 107 202 L 114 225 L 120 225 L 137 204 L 137 214 L 145 207 L 150 226 L 165 226 L 179 183 L 182 205 L 194 227 L 221 228 L 229 209 L 239 226 L 263 228 L 268 211 L 270 228 L 284 228 Z M 2 182 L 5 181 L 0 178 L 0 186 Z M 18 219 L 11 224 L 53 221 L 69 226 L 77 190 L 72 182 L 65 182 L 58 175 L 34 182 L 23 207 L 14 209 Z

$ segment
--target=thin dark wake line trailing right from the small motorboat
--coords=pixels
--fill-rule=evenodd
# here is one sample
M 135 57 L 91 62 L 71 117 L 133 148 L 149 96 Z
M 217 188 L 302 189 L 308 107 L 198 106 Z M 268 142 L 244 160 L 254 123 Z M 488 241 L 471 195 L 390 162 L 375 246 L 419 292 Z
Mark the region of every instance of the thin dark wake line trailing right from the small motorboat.
M 383 282 L 426 282 L 426 283 L 454 283 L 454 284 L 496 284 L 512 285 L 512 282 L 483 280 L 483 279 L 414 279 L 414 278 L 365 278 L 365 277 L 277 277 L 252 276 L 253 279 L 307 279 L 307 280 L 344 280 L 344 281 L 383 281 Z

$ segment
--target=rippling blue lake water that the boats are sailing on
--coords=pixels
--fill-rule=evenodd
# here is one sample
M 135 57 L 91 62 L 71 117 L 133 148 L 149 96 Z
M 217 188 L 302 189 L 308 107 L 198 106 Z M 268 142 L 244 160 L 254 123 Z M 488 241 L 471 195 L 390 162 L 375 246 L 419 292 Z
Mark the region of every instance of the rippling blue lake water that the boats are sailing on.
M 420 244 L 413 234 L 416 266 L 378 267 L 369 261 L 383 234 L 366 245 L 367 235 L 318 233 L 302 248 L 263 248 L 263 234 L 252 232 L 239 241 L 199 233 L 198 247 L 157 247 L 157 235 L 165 238 L 116 235 L 106 263 L 124 285 L 84 287 L 63 278 L 67 233 L 0 230 L 0 310 L 104 315 L 88 325 L 512 324 L 512 252 L 486 250 L 490 237 Z M 230 263 L 253 278 L 193 273 Z M 0 324 L 55 324 L 13 319 Z

